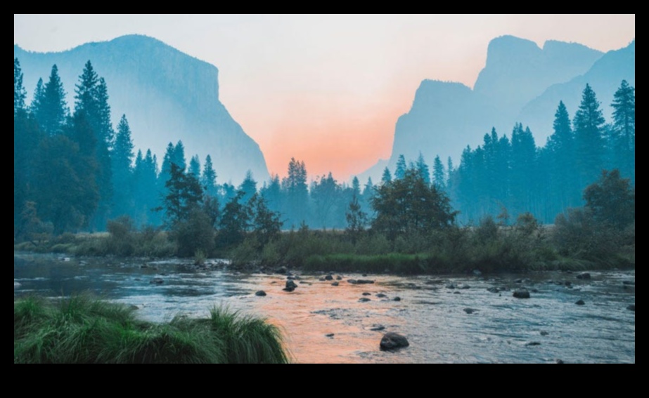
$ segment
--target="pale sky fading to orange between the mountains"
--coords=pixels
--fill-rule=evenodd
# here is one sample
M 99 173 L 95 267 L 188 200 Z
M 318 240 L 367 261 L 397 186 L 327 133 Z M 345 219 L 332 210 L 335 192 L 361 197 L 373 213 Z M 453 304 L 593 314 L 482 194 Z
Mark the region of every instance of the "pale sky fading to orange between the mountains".
M 271 173 L 295 157 L 312 177 L 339 180 L 390 157 L 422 80 L 473 87 L 491 39 L 610 51 L 635 32 L 635 14 L 13 15 L 13 42 L 29 51 L 146 34 L 210 62 L 221 102 Z

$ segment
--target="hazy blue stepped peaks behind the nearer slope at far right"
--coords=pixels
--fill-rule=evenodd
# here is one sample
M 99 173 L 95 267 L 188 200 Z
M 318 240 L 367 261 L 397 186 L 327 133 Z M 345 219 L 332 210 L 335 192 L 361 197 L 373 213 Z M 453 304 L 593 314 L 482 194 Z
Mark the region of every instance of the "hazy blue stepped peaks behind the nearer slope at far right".
M 420 84 L 410 112 L 399 117 L 395 126 L 388 167 L 394 170 L 400 154 L 415 160 L 420 152 L 428 164 L 437 155 L 444 164 L 449 156 L 459 164 L 467 145 L 480 145 L 492 127 L 509 135 L 528 102 L 548 87 L 588 72 L 602 55 L 581 44 L 546 41 L 539 48 L 533 41 L 512 36 L 493 39 L 473 90 L 453 82 Z M 553 115 L 554 110 L 543 117 L 552 121 Z M 359 178 L 379 178 L 382 171 L 374 166 Z

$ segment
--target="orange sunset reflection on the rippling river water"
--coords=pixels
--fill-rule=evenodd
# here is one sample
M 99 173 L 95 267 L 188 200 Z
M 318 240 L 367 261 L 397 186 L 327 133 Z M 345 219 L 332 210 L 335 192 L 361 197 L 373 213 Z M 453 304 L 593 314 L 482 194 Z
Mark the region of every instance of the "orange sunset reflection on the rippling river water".
M 296 283 L 298 288 L 287 293 L 282 291 L 283 277 L 259 279 L 259 288 L 268 296 L 255 300 L 257 312 L 282 329 L 294 362 L 351 364 L 369 358 L 381 361 L 380 356 L 389 355 L 380 352 L 379 343 L 384 333 L 398 328 L 399 321 L 387 312 L 400 303 L 392 297 L 378 298 L 387 294 L 380 284 L 353 285 L 345 280 L 332 286 L 333 281 L 319 281 L 319 277 Z M 360 303 L 361 298 L 371 301 Z M 378 326 L 385 331 L 371 330 Z M 397 356 L 390 356 L 390 362 L 395 361 Z

